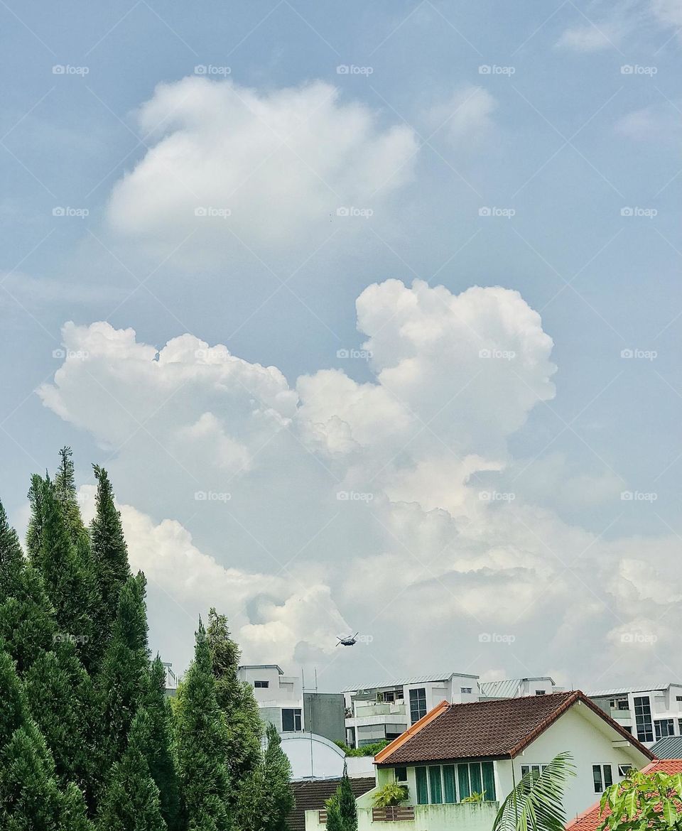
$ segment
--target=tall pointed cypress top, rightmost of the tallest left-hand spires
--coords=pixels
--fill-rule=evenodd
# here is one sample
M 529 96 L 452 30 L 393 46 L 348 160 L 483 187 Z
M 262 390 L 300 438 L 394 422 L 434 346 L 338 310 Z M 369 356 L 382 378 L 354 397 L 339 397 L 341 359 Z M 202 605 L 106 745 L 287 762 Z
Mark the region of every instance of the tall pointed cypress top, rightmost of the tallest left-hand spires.
M 130 578 L 130 565 L 109 476 L 98 465 L 93 465 L 93 470 L 97 479 L 97 495 L 96 516 L 91 524 L 92 556 L 104 607 L 101 626 L 105 632 L 110 632 L 118 613 L 120 593 Z

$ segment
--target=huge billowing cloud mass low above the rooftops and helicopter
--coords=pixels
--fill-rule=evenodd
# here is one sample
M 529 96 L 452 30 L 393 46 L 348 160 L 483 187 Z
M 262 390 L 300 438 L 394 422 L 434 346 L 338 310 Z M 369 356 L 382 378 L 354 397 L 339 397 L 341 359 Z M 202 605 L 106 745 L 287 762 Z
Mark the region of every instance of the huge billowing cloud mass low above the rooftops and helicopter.
M 596 681 L 614 642 L 658 666 L 679 613 L 645 579 L 655 543 L 606 543 L 551 494 L 523 498 L 508 437 L 554 395 L 537 312 L 503 288 L 395 280 L 356 305 L 364 383 L 329 369 L 292 383 L 189 335 L 157 351 L 105 322 L 64 327 L 66 360 L 40 395 L 112 456 L 164 651 L 186 661 L 192 618 L 214 603 L 250 660 L 315 662 L 332 686 L 349 661 Z M 556 465 L 537 475 L 558 483 Z M 608 505 L 620 484 L 593 490 Z M 373 640 L 337 650 L 349 627 Z

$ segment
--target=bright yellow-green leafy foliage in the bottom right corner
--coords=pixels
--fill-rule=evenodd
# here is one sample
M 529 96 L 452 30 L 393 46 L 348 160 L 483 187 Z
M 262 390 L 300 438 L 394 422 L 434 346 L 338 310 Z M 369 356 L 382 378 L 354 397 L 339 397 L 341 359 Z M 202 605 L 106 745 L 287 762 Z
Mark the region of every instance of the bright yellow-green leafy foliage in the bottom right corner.
M 606 809 L 610 813 L 606 814 Z M 682 824 L 682 774 L 630 770 L 601 794 L 600 831 L 667 831 Z

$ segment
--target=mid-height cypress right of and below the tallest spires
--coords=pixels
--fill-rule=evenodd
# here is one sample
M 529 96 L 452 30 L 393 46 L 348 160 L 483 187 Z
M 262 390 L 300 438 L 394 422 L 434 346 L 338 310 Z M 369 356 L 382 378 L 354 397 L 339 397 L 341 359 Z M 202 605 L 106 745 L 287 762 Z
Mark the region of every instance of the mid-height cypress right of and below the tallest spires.
M 145 575 L 141 572 L 125 583 L 97 679 L 105 729 L 103 750 L 112 762 L 120 759 L 128 744 L 130 725 L 145 693 L 150 659 L 145 586 Z

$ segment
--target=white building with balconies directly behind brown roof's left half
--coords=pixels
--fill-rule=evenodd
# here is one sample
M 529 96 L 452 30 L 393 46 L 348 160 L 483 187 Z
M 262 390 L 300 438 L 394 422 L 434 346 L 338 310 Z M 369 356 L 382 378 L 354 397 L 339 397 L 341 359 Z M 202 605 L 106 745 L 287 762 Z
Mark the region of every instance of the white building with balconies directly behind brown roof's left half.
M 346 703 L 346 745 L 391 741 L 441 701 L 478 701 L 478 676 L 459 672 L 356 684 L 342 691 Z

